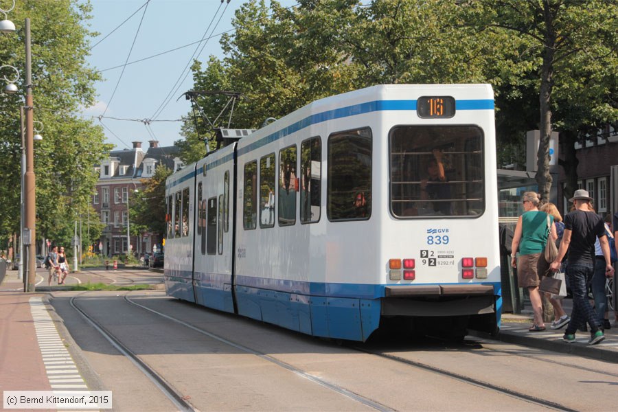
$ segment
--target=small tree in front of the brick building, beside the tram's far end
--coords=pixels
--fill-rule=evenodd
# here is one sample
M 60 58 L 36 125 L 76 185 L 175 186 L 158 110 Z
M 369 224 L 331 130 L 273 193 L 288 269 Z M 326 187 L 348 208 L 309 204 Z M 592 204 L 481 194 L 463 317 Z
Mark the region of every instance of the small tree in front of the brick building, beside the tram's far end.
M 141 181 L 144 190 L 131 196 L 129 218 L 134 233 L 140 233 L 140 230 L 141 232 L 151 231 L 165 237 L 165 225 L 168 222 L 165 179 L 168 179 L 170 174 L 172 170 L 165 166 L 155 168 L 152 178 Z

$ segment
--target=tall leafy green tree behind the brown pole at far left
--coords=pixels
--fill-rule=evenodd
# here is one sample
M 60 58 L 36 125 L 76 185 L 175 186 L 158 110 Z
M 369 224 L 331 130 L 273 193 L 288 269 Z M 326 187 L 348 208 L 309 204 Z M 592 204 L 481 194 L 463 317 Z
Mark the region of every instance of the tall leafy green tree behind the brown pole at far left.
M 76 113 L 95 99 L 99 75 L 88 67 L 91 33 L 84 27 L 91 7 L 77 0 L 18 0 L 10 19 L 14 34 L 0 36 L 0 61 L 21 69 L 25 62 L 23 21 L 32 25 L 34 119 L 43 141 L 34 148 L 37 238 L 70 244 L 73 225 L 91 200 L 94 165 L 110 148 L 98 126 Z M 23 90 L 24 79 L 18 82 Z M 0 97 L 0 233 L 19 233 L 21 187 L 21 95 Z M 41 124 L 36 124 L 40 125 Z M 70 233 L 70 237 L 69 234 Z

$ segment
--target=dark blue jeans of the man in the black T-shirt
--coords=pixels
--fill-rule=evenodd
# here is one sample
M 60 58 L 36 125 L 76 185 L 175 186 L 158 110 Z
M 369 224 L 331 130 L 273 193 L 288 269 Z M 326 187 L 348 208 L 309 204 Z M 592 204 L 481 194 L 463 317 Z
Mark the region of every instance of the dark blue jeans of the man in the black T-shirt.
M 577 328 L 582 328 L 588 322 L 591 332 L 596 332 L 601 323 L 588 301 L 588 280 L 592 279 L 595 266 L 593 264 L 568 264 L 567 277 L 573 294 L 573 312 L 567 326 L 567 334 L 575 334 Z

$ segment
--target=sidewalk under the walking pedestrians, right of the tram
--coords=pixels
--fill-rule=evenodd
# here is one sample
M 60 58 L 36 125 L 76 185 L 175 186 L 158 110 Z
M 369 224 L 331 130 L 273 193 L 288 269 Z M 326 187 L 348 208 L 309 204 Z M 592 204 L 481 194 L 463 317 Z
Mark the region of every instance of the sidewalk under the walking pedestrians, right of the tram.
M 562 299 L 562 306 L 567 314 L 571 314 L 573 309 L 573 301 L 571 299 Z M 566 326 L 558 330 L 549 328 L 551 322 L 545 323 L 547 330 L 543 332 L 529 332 L 528 328 L 532 325 L 532 311 L 530 308 L 523 310 L 522 314 L 502 314 L 502 325 L 498 336 L 492 339 L 499 341 L 515 343 L 516 345 L 524 345 L 536 347 L 542 350 L 551 350 L 566 354 L 582 356 L 584 358 L 594 358 L 601 361 L 618 363 L 618 323 L 613 321 L 614 312 L 609 313 L 610 323 L 612 328 L 605 331 L 605 340 L 597 345 L 588 345 L 590 332 L 577 331 L 575 334 L 575 343 L 566 343 L 562 341 Z M 488 337 L 487 334 L 474 333 L 475 336 Z

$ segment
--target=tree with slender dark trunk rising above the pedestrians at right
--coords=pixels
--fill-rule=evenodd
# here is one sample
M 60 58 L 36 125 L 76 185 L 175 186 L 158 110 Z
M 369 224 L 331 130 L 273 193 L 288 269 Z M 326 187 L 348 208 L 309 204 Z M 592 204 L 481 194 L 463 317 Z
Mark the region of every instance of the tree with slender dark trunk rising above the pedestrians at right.
M 566 76 L 574 60 L 582 56 L 585 59 L 606 57 L 608 52 L 615 59 L 617 3 L 605 0 L 470 0 L 462 7 L 470 13 L 470 21 L 479 27 L 510 30 L 531 42 L 521 60 L 532 63 L 529 74 L 534 74 L 538 95 L 540 142 L 536 181 L 542 198 L 547 200 L 552 180 L 549 138 L 556 124 L 556 119 L 552 119 L 557 110 L 555 94 L 558 89 L 566 91 L 580 82 L 580 79 Z

